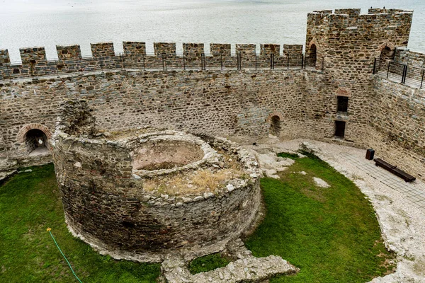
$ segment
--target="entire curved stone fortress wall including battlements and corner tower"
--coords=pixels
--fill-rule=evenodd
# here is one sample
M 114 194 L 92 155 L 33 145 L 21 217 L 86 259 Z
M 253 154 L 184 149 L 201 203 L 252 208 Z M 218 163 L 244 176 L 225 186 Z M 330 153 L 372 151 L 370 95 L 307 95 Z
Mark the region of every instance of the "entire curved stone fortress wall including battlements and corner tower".
M 11 64 L 0 50 L 0 170 L 50 160 L 38 153 L 49 146 L 58 106 L 84 98 L 110 131 L 150 126 L 251 140 L 272 133 L 373 147 L 423 179 L 425 93 L 374 69 L 423 66 L 424 54 L 406 50 L 412 15 L 314 11 L 304 54 L 301 45 L 278 44 L 261 45 L 259 54 L 237 44 L 234 55 L 230 45 L 211 44 L 205 54 L 200 43 L 177 54 L 164 42 L 147 54 L 145 42 L 124 42 L 117 55 L 106 42 L 91 45 L 89 58 L 79 45 L 58 46 L 53 61 L 42 47 L 24 48 L 22 64 Z

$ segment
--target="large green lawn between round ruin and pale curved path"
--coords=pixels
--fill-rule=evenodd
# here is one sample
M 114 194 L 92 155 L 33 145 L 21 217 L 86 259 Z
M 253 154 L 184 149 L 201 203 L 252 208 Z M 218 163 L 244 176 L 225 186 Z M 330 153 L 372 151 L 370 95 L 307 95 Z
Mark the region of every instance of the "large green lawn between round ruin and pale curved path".
M 307 175 L 300 172 L 305 171 Z M 312 177 L 331 187 L 317 187 Z M 271 282 L 368 282 L 385 275 L 394 255 L 383 244 L 373 207 L 350 180 L 309 156 L 263 178 L 266 218 L 246 246 L 257 257 L 280 255 L 298 275 Z

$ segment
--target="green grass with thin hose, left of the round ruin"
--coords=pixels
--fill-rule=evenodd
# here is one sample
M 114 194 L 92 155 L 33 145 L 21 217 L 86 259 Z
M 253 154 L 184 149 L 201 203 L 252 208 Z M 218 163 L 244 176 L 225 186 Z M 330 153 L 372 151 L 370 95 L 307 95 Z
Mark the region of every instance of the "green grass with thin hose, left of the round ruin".
M 156 282 L 159 265 L 113 260 L 74 238 L 64 223 L 53 165 L 34 167 L 0 187 L 0 282 Z

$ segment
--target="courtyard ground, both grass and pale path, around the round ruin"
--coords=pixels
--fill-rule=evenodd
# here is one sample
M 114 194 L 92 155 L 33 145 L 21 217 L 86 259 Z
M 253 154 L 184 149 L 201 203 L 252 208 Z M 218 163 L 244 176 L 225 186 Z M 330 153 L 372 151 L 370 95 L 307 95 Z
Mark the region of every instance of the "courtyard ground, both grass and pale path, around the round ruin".
M 248 147 L 262 153 L 295 152 L 302 141 L 272 139 Z M 424 282 L 425 216 L 412 204 L 416 198 L 390 187 L 397 180 L 385 184 L 387 179 L 380 178 L 380 171 L 377 174 L 367 168 L 370 161 L 364 159 L 364 150 L 309 143 L 336 170 L 314 158 L 300 158 L 293 164 L 287 162 L 285 170 L 276 173 L 278 179 L 261 180 L 268 214 L 246 245 L 254 255 L 282 255 L 301 268 L 299 275 L 271 281 L 367 282 L 373 276 L 385 275 L 392 259 L 383 250 L 367 197 L 378 216 L 385 244 L 397 253 L 396 272 L 373 282 Z M 0 282 L 75 281 L 47 227 L 52 228 L 83 282 L 155 282 L 159 265 L 115 261 L 73 238 L 64 224 L 53 166 L 32 170 L 0 186 Z M 317 187 L 313 176 L 330 187 Z M 421 182 L 410 185 L 405 190 L 421 192 Z M 342 196 L 334 195 L 335 191 Z M 205 265 L 202 260 L 198 262 Z

